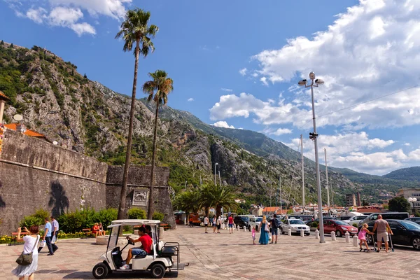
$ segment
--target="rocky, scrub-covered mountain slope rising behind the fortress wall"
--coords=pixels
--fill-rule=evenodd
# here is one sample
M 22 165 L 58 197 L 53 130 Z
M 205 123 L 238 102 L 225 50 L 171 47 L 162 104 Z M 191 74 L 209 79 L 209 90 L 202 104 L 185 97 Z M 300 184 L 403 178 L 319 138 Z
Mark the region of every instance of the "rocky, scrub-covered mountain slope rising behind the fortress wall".
M 0 90 L 10 97 L 6 122 L 21 113 L 28 128 L 50 141 L 123 165 L 130 112 L 130 97 L 118 94 L 77 72 L 77 66 L 34 46 L 31 50 L 0 44 Z M 139 92 L 138 95 L 141 93 Z M 169 104 L 176 95 L 169 96 Z M 153 103 L 136 102 L 133 158 L 135 165 L 151 163 Z M 248 130 L 213 127 L 186 111 L 165 107 L 158 127 L 158 165 L 171 169 L 175 190 L 214 181 L 213 167 L 221 167 L 222 183 L 236 186 L 248 202 L 267 203 L 281 192 L 283 200 L 300 202 L 299 154 L 287 146 Z M 316 201 L 314 163 L 305 160 L 307 202 Z M 354 186 L 342 173 L 329 172 L 335 202 Z M 325 174 L 321 179 L 325 185 Z M 324 194 L 324 198 L 326 195 Z

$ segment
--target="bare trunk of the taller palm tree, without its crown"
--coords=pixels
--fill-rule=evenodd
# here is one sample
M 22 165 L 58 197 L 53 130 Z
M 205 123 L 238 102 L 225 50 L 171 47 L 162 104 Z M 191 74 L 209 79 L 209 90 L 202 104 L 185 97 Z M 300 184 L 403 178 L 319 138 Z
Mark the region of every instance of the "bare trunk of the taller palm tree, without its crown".
M 133 79 L 133 92 L 132 104 L 130 108 L 130 125 L 128 126 L 128 139 L 127 139 L 127 153 L 125 154 L 125 165 L 123 173 L 123 186 L 121 186 L 120 207 L 118 208 L 118 220 L 125 218 L 125 200 L 127 196 L 127 183 L 128 171 L 130 169 L 131 147 L 133 137 L 133 123 L 134 123 L 134 106 L 136 104 L 136 90 L 137 90 L 137 70 L 139 69 L 139 39 L 136 45 L 136 62 L 134 63 L 134 79 Z

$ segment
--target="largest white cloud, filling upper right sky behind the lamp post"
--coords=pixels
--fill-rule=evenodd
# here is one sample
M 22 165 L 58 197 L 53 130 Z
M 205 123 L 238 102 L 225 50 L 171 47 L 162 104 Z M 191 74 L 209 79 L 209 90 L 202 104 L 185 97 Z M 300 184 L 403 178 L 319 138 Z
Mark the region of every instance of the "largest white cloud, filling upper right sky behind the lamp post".
M 258 61 L 253 73 L 267 85 L 296 83 L 315 71 L 325 80 L 314 92 L 318 116 L 412 87 L 419 83 L 419 13 L 420 1 L 360 0 L 313 38 L 290 38 L 279 49 L 253 56 Z M 360 104 L 323 116 L 318 126 L 358 125 L 360 129 L 420 124 L 419 94 L 416 87 Z M 296 96 L 301 104 L 310 103 L 308 89 L 289 90 L 288 97 Z M 305 117 L 301 111 L 295 113 Z

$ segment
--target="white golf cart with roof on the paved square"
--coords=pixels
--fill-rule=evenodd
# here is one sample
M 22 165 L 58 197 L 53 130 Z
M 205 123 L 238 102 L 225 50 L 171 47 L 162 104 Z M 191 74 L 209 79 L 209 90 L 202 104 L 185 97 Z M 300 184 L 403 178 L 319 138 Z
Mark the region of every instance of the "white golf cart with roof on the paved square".
M 120 249 L 118 244 L 119 233 L 123 231 L 124 225 L 150 225 L 152 228 L 152 252 L 148 255 L 134 255 L 130 269 L 120 269 L 123 266 L 122 253 L 129 244 L 134 245 L 130 240 L 127 240 L 127 245 Z M 92 274 L 96 279 L 104 279 L 110 273 L 133 273 L 133 272 L 151 272 L 153 278 L 162 278 L 166 270 L 178 272 L 184 269 L 188 264 L 179 263 L 179 243 L 166 242 L 159 240 L 159 225 L 158 220 L 116 220 L 109 225 L 111 229 L 109 235 L 108 247 L 106 252 L 101 255 L 99 260 L 103 260 L 95 265 L 92 269 Z M 138 244 L 140 246 L 141 244 Z M 176 257 L 176 260 L 174 258 Z

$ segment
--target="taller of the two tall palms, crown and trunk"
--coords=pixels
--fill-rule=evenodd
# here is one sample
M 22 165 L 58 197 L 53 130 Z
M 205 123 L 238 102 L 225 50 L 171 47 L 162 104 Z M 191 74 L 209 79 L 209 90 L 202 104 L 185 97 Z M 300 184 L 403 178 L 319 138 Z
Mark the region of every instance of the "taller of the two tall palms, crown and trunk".
M 116 38 L 123 38 L 125 52 L 131 51 L 133 43 L 136 43 L 134 55 L 136 57 L 134 62 L 134 80 L 132 91 L 132 104 L 130 108 L 130 125 L 128 126 L 128 139 L 127 139 L 127 153 L 125 155 L 125 165 L 123 174 L 123 186 L 121 187 L 120 206 L 118 208 L 118 219 L 125 217 L 125 200 L 127 195 L 127 181 L 128 170 L 130 169 L 131 147 L 133 137 L 133 122 L 134 122 L 134 105 L 136 102 L 137 90 L 137 70 L 139 68 L 139 55 L 146 57 L 149 52 L 155 50 L 151 38 L 155 37 L 158 32 L 158 27 L 155 25 L 148 25 L 151 18 L 151 13 L 136 8 L 128 10 L 125 14 L 125 21 L 121 24 L 120 31 L 117 33 Z

